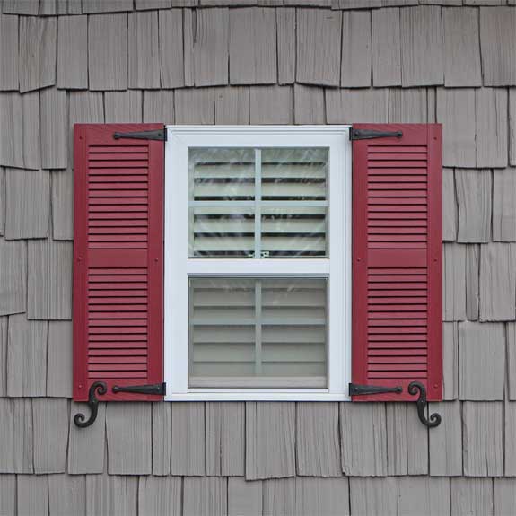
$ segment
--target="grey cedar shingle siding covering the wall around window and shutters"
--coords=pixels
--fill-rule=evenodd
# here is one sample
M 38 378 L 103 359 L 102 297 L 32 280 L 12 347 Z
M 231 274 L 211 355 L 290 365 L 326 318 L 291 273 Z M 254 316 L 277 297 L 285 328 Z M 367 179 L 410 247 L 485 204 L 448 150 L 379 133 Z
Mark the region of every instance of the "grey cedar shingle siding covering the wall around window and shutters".
M 0 514 L 514 512 L 514 0 L 0 11 Z M 249 402 L 101 404 L 75 427 L 72 127 L 140 121 L 443 124 L 441 426 L 413 404 Z

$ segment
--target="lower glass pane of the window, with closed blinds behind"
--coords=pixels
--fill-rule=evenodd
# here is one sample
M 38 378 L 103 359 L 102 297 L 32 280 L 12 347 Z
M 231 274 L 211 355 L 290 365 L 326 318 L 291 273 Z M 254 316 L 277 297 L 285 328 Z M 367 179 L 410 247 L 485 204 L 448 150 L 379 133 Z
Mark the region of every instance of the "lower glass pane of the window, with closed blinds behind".
M 190 387 L 328 386 L 324 278 L 190 278 Z

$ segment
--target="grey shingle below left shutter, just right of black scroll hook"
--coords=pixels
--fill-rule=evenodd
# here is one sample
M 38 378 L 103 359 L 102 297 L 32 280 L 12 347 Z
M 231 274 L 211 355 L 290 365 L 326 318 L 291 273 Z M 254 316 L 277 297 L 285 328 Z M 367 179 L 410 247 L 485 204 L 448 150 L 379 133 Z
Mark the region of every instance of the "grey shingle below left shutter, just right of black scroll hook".
M 109 403 L 106 408 L 108 472 L 110 475 L 150 475 L 152 424 L 150 403 Z

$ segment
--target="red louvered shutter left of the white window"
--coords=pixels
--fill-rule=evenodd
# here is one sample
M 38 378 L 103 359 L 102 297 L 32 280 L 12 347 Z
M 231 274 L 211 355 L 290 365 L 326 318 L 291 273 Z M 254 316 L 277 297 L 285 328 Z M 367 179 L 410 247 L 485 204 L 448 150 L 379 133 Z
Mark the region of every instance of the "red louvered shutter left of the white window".
M 74 127 L 74 399 L 95 381 L 163 381 L 164 143 L 118 139 L 156 124 Z

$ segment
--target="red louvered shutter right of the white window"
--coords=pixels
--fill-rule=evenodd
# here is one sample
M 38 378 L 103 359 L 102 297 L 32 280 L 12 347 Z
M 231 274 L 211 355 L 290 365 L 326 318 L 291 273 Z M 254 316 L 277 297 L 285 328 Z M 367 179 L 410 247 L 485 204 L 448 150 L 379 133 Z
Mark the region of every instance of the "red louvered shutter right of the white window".
M 353 383 L 403 388 L 354 401 L 442 398 L 439 125 L 355 125 L 401 137 L 353 142 Z

